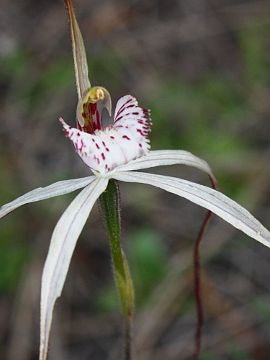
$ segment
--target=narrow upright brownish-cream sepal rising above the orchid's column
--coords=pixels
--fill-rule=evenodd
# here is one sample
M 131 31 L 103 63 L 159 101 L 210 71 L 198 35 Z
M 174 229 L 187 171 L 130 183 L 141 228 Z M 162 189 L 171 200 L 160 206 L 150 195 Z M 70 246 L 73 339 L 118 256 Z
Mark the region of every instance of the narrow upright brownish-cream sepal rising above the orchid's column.
M 83 97 L 84 92 L 90 88 L 88 78 L 88 65 L 85 53 L 83 37 L 76 20 L 72 0 L 65 0 L 68 17 L 70 21 L 71 41 L 73 60 L 75 68 L 76 86 L 79 100 Z

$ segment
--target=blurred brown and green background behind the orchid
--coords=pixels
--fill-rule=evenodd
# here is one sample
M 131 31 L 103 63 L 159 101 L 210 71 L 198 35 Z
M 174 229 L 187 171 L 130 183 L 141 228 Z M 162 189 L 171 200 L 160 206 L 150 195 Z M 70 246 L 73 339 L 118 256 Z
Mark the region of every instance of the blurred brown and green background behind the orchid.
M 77 94 L 63 1 L 0 1 L 0 203 L 87 176 L 58 122 Z M 270 227 L 270 2 L 76 0 L 90 79 L 113 101 L 152 110 L 153 149 L 207 160 L 219 189 Z M 209 185 L 185 167 L 155 169 Z M 137 360 L 189 359 L 192 249 L 205 211 L 121 184 L 123 246 L 136 288 Z M 0 224 L 0 359 L 37 359 L 42 267 L 75 194 L 25 206 Z M 270 252 L 216 217 L 202 244 L 201 360 L 268 360 Z M 76 247 L 51 334 L 51 360 L 120 359 L 122 319 L 96 206 Z

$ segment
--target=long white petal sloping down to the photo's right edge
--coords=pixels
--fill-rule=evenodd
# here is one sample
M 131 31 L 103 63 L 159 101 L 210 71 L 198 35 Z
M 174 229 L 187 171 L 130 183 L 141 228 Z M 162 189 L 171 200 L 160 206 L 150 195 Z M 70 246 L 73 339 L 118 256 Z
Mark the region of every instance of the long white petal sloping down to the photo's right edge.
M 246 209 L 216 190 L 187 180 L 139 172 L 117 172 L 113 174 L 113 178 L 153 185 L 184 197 L 212 211 L 235 228 L 270 247 L 270 232 Z

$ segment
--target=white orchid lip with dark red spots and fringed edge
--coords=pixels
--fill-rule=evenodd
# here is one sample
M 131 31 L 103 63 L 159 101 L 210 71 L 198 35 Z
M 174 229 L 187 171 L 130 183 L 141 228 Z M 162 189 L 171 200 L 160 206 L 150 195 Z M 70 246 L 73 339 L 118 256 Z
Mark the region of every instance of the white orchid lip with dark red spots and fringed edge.
M 138 106 L 130 95 L 116 105 L 112 126 L 89 134 L 68 126 L 60 119 L 68 138 L 87 166 L 94 173 L 105 174 L 119 165 L 145 155 L 149 148 L 150 131 L 148 111 Z

